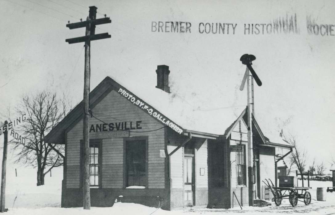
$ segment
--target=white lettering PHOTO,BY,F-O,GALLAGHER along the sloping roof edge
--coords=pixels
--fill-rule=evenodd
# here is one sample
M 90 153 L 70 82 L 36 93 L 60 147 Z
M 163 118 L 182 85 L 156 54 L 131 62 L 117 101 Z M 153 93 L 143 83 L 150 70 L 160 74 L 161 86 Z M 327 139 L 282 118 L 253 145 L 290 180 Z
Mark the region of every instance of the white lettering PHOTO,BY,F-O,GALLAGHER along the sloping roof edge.
M 146 104 L 144 101 L 140 100 L 139 98 L 136 98 L 130 92 L 127 92 L 122 88 L 120 88 L 117 92 L 121 96 L 124 96 L 133 104 L 137 105 L 142 110 L 146 111 L 150 116 L 158 119 L 161 123 L 165 124 L 166 126 L 169 126 L 172 130 L 176 131 L 179 134 L 183 133 L 183 129 L 181 129 L 176 123 L 165 117 L 163 114 L 152 108 L 150 105 Z

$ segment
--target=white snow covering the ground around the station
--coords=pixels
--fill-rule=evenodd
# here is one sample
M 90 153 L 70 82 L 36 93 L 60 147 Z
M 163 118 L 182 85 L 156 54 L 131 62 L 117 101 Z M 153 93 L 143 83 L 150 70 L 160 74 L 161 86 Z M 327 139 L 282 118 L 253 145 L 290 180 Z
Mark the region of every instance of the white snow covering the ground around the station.
M 47 174 L 44 186 L 36 186 L 36 170 L 32 168 L 18 169 L 18 176 L 15 177 L 15 169 L 7 168 L 6 182 L 6 208 L 8 215 L 119 215 L 119 214 L 136 214 L 136 215 L 217 215 L 217 214 L 330 214 L 335 213 L 335 192 L 327 193 L 326 201 L 316 200 L 316 190 L 318 187 L 328 187 L 332 182 L 311 181 L 312 202 L 306 206 L 303 202 L 298 202 L 296 207 L 292 207 L 288 200 L 283 200 L 282 205 L 268 207 L 235 207 L 232 209 L 197 209 L 193 211 L 164 211 L 157 208 L 146 207 L 134 203 L 115 203 L 113 207 L 91 207 L 91 210 L 82 208 L 60 208 L 61 202 L 61 182 L 63 178 L 62 168 L 52 171 L 52 177 Z M 298 182 L 299 186 L 301 181 Z M 307 184 L 305 185 L 307 186 Z

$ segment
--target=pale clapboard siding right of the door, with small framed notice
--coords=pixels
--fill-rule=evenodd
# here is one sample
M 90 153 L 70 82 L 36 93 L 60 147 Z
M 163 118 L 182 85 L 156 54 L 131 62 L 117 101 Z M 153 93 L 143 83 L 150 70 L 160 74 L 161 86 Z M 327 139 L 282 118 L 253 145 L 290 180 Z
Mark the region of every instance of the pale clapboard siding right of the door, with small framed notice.
M 207 166 L 207 139 L 205 141 L 197 142 L 196 144 L 196 187 L 208 188 L 208 166 Z M 205 175 L 200 176 L 200 168 L 205 169 Z

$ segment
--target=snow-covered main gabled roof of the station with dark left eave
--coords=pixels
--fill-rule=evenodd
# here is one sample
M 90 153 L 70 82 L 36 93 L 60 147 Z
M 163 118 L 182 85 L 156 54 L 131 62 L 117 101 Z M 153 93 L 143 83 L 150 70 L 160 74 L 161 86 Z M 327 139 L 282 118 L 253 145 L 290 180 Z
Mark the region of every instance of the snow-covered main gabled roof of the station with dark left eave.
M 137 87 L 137 89 L 135 89 Z M 201 110 L 195 109 L 199 104 L 190 104 L 177 93 L 166 93 L 152 87 L 150 90 L 138 88 L 140 86 L 125 88 L 110 77 L 106 77 L 89 94 L 89 107 L 92 109 L 113 89 L 117 92 L 120 88 L 141 99 L 152 108 L 156 109 L 173 120 L 183 132 L 192 132 L 199 135 L 219 137 L 241 118 L 242 108 Z M 144 98 L 144 99 L 143 99 Z M 66 129 L 82 118 L 83 101 L 81 101 L 70 113 L 59 122 L 46 136 L 45 141 L 49 143 L 64 143 Z M 239 116 L 236 113 L 241 113 Z M 231 124 L 233 122 L 233 124 Z

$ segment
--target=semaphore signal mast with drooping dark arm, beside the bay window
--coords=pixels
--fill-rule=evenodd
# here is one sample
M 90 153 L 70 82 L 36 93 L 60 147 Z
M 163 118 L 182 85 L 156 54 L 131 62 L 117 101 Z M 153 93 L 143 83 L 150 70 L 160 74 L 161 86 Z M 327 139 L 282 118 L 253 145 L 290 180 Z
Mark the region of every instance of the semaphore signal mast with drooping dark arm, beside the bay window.
M 253 184 L 256 183 L 256 173 L 255 173 L 255 160 L 254 160 L 254 152 L 253 152 L 253 139 L 252 139 L 252 117 L 254 116 L 254 83 L 253 80 L 255 79 L 258 86 L 262 86 L 261 80 L 258 78 L 257 74 L 255 73 L 254 69 L 252 68 L 252 61 L 256 60 L 254 55 L 244 54 L 241 56 L 240 61 L 242 64 L 246 65 L 246 72 L 244 74 L 240 90 L 242 91 L 244 85 L 247 81 L 247 111 L 248 111 L 248 186 L 249 186 L 249 206 L 253 206 Z M 250 75 L 251 72 L 251 75 Z M 250 79 L 251 79 L 251 99 L 250 102 Z M 252 106 L 251 106 L 252 105 Z M 257 189 L 256 189 L 257 190 Z

